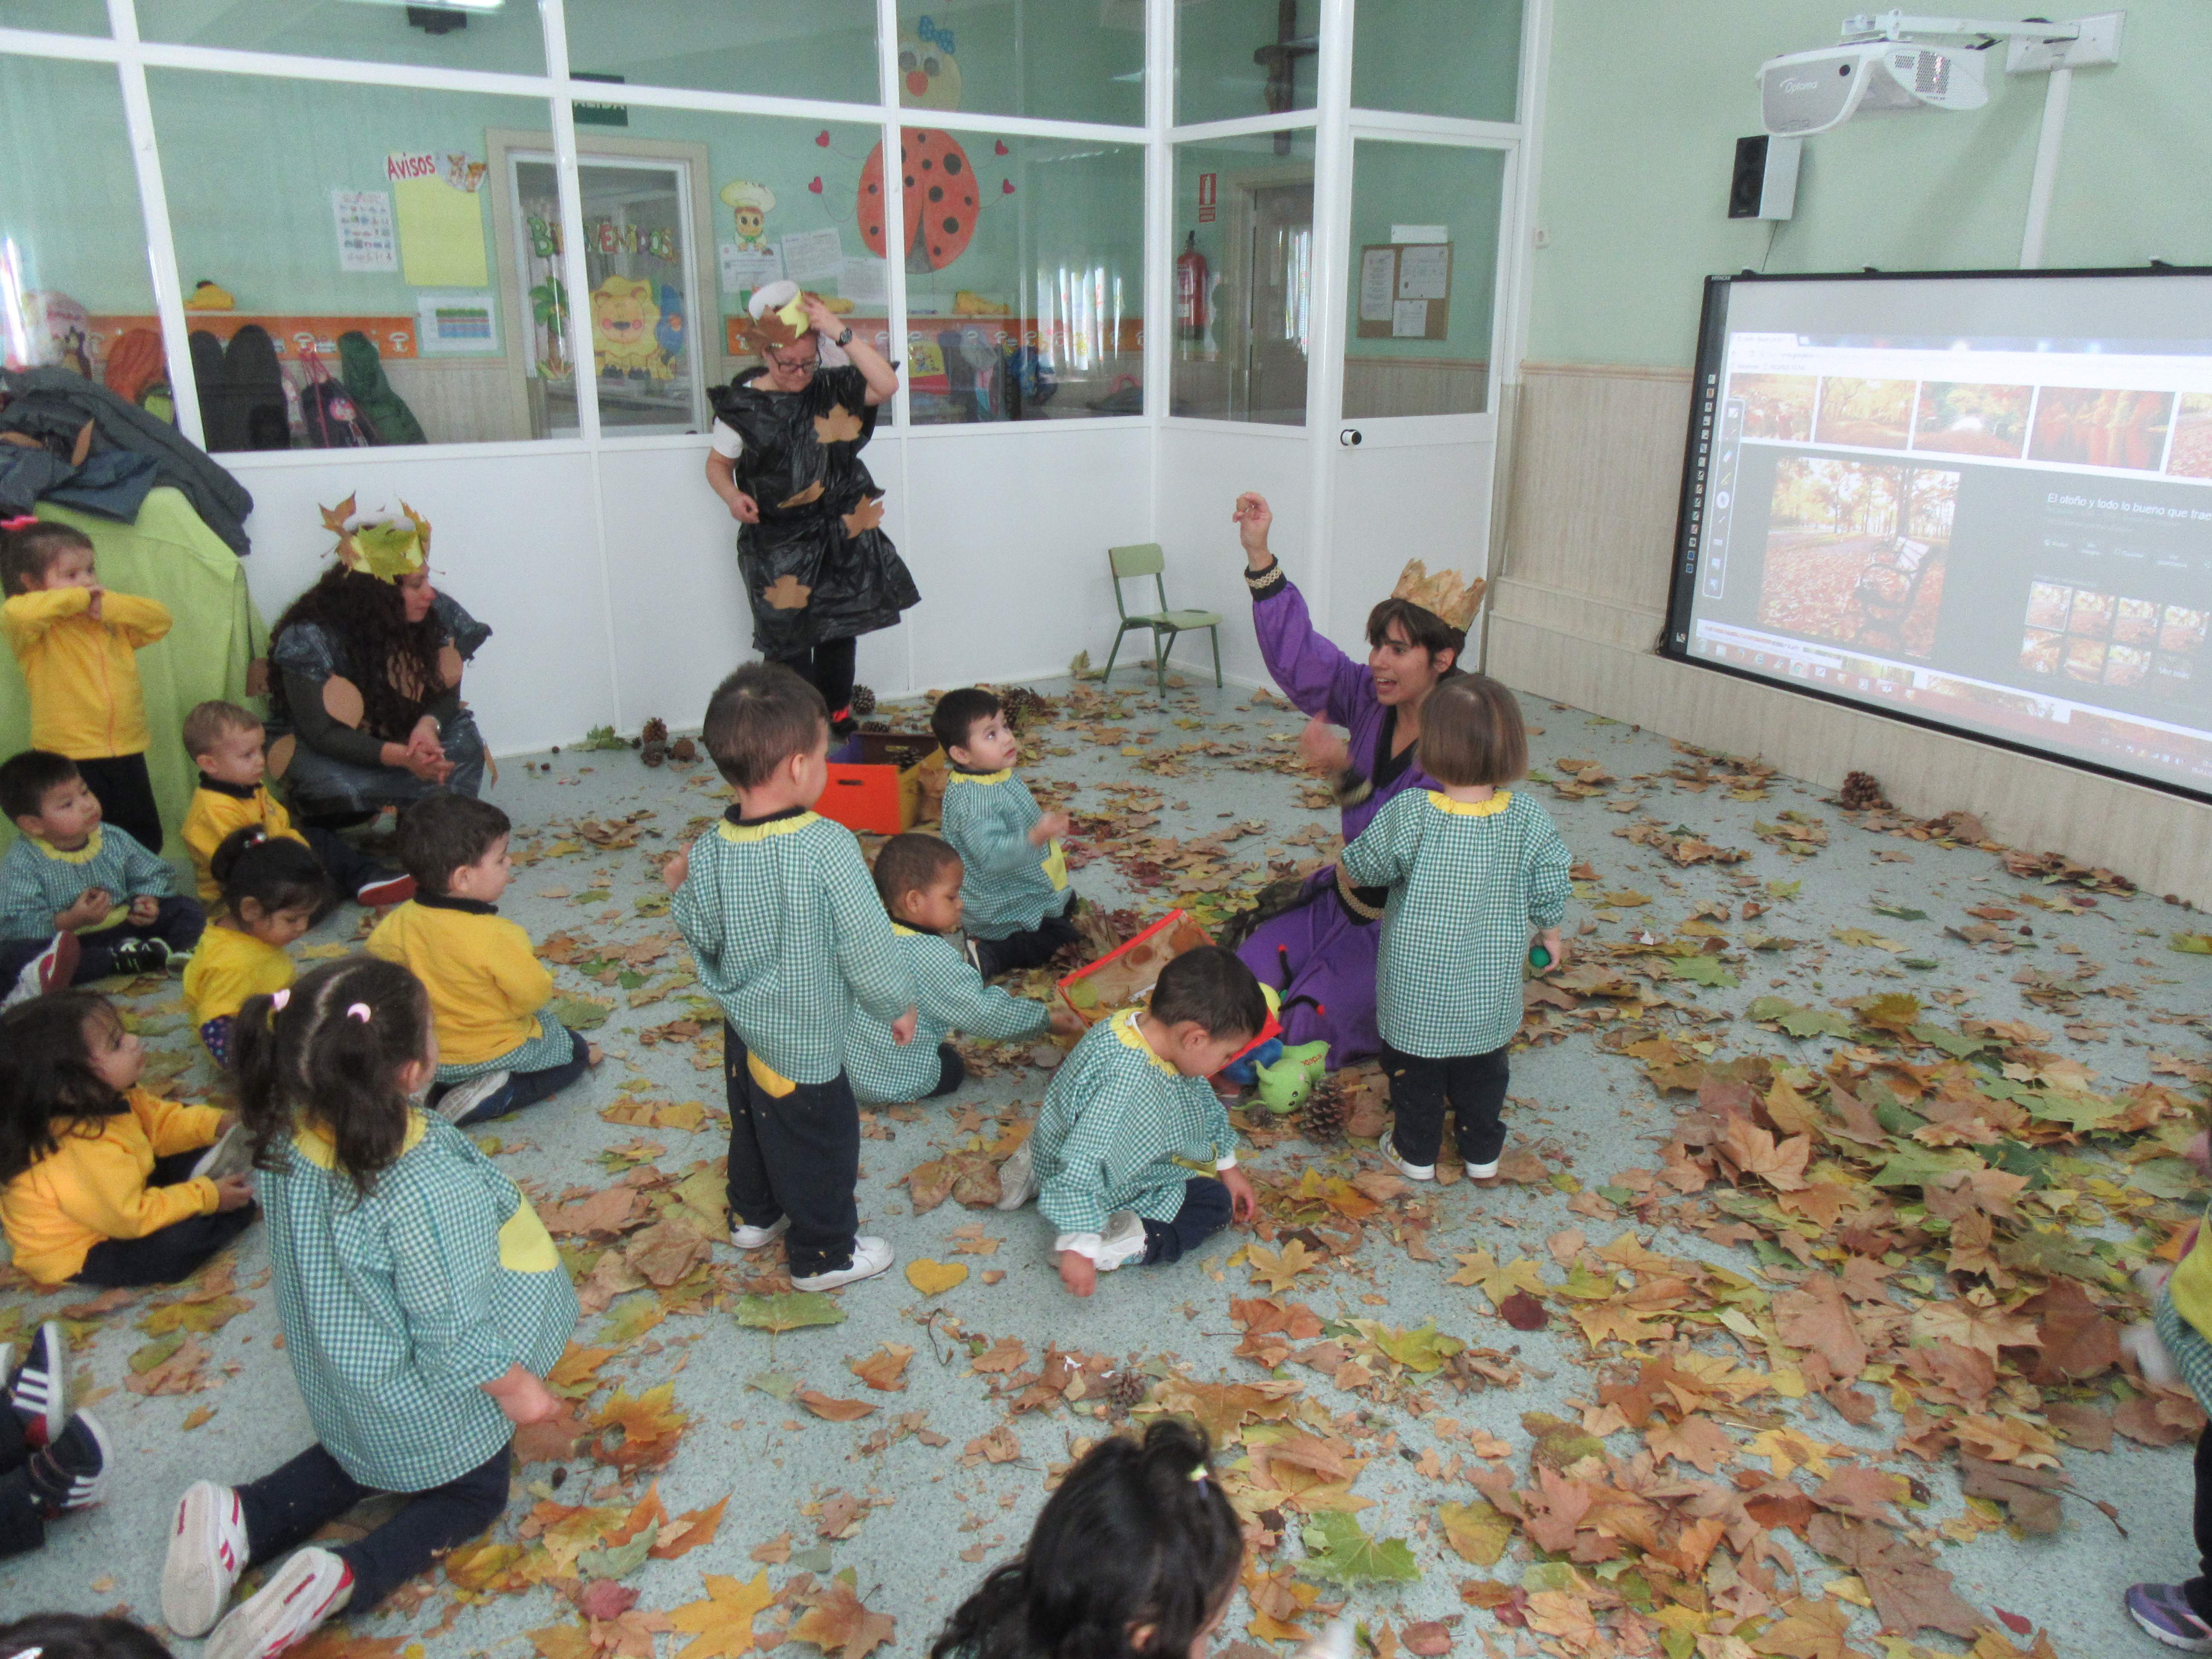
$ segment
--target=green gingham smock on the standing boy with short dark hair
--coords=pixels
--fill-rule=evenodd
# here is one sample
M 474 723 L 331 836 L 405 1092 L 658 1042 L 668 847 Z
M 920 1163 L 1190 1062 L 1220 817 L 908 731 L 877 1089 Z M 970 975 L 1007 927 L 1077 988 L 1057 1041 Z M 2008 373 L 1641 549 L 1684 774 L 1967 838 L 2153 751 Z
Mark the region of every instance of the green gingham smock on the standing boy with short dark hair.
M 845 1071 L 856 1011 L 891 1022 L 914 1006 L 860 843 L 814 812 L 723 814 L 692 843 L 675 918 L 699 984 L 752 1057 L 794 1084 Z

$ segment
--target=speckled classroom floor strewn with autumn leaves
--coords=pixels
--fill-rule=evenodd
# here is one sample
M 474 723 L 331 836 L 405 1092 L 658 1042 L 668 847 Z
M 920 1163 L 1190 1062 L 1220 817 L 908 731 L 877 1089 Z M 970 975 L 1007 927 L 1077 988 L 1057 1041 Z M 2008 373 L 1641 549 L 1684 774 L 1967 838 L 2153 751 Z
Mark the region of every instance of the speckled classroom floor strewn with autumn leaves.
M 1259 885 L 1270 863 L 1327 852 L 1334 812 L 1290 761 L 1298 714 L 1210 686 L 1161 708 L 1139 679 L 1124 670 L 1113 697 L 1079 688 L 1042 728 L 1051 752 L 1026 768 L 1088 830 L 1082 894 L 1150 918 L 1179 889 L 1206 902 Z M 1068 684 L 1037 690 L 1066 699 Z M 1905 1632 L 1916 1646 L 1878 1637 L 1867 1608 L 1871 1595 L 1960 1626 L 1942 1575 L 1995 1632 L 1973 1648 L 1984 1659 L 2015 1641 L 2154 1652 L 2119 1597 L 2135 1577 L 2192 1571 L 2192 1407 L 2135 1398 L 2110 1369 L 2110 1323 L 2066 1303 L 2064 1283 L 2073 1272 L 2126 1312 L 2124 1270 L 2190 1214 L 2197 1188 L 2172 1152 L 2192 1124 L 2161 1108 L 2201 1108 L 2212 1075 L 2212 958 L 2168 945 L 2201 933 L 2201 918 L 2095 874 L 2088 887 L 2084 872 L 2022 876 L 1900 818 L 1867 827 L 1820 790 L 1650 732 L 1540 699 L 1524 708 L 1528 787 L 1584 860 L 1568 927 L 1593 931 L 1513 1062 L 1517 1179 L 1402 1192 L 1376 1179 L 1387 1166 L 1371 1144 L 1316 1146 L 1296 1117 L 1252 1108 L 1270 1237 L 1223 1234 L 1181 1265 L 1106 1276 L 1077 1303 L 1035 1210 L 962 1203 L 989 1197 L 984 1152 L 1046 1086 L 1026 1053 L 1002 1053 L 949 1102 L 872 1113 L 860 1217 L 898 1267 L 836 1296 L 843 1323 L 796 1327 L 812 1310 L 779 1301 L 774 1252 L 737 1259 L 699 1237 L 719 1194 L 719 1044 L 712 1024 L 697 1026 L 657 872 L 721 810 L 712 772 L 646 770 L 628 750 L 504 761 L 491 799 L 520 832 L 502 911 L 562 962 L 564 998 L 593 1000 L 568 1011 L 604 1020 L 593 1035 L 608 1060 L 568 1095 L 476 1133 L 535 1194 L 584 1283 L 582 1352 L 557 1380 L 595 1438 L 522 1469 L 489 1546 L 356 1621 L 352 1648 L 323 1652 L 420 1655 L 420 1641 L 434 1655 L 644 1659 L 697 1639 L 695 1659 L 710 1659 L 790 1639 L 794 1652 L 858 1659 L 880 1637 L 883 1652 L 922 1652 L 1018 1548 L 1055 1471 L 1121 1420 L 1126 1394 L 1139 1420 L 1170 1405 L 1232 1436 L 1230 1486 L 1256 1493 L 1250 1506 L 1279 1537 L 1217 1652 L 1318 1628 L 1336 1601 L 1380 1659 L 1962 1652 L 1966 1639 L 1936 1628 Z M 341 911 L 307 953 L 336 953 L 361 920 Z M 1878 995 L 1891 1000 L 1863 1002 Z M 126 1002 L 157 1071 L 184 1093 L 210 1088 L 175 982 L 135 984 Z M 1949 1064 L 1947 1048 L 2006 1071 Z M 1885 1119 L 1865 1141 L 1922 1133 L 1871 1155 L 1832 1133 L 1807 1164 L 1796 1135 L 1750 1126 L 1743 1068 L 1712 1073 L 1736 1055 L 1803 1068 L 1781 1084 L 1750 1075 L 1763 1110 L 1783 1113 L 1776 1130 L 1820 1119 L 1801 1093 L 1836 1057 L 1845 1077 L 1876 1068 L 1849 1084 Z M 2031 1108 L 2042 1144 L 1960 1119 L 1962 1077 L 1997 1091 L 1975 1095 L 1991 1113 Z M 1703 1086 L 1728 1135 L 1705 1119 L 1670 1152 L 1697 1097 L 1661 1095 L 1659 1082 Z M 2135 1119 L 2159 1121 L 2101 1150 L 2066 1144 L 2051 1119 L 2093 1126 L 2152 1082 L 2183 1093 L 2137 1091 Z M 1358 1073 L 1343 1095 L 1352 1128 L 1371 1128 Z M 1951 1254 L 1982 1228 L 2000 1296 L 1953 1301 L 1982 1281 L 1947 1279 L 1947 1245 L 1927 1230 L 1905 1241 L 1927 1254 L 1860 1254 L 1840 1290 L 1807 1274 L 1843 1263 L 1832 1239 L 1896 1245 L 1893 1210 L 1867 1221 L 1867 1206 L 1887 1199 L 1918 1219 L 1920 1188 L 1898 1188 L 1898 1172 L 1940 1181 L 1933 1166 L 1964 1161 L 1953 1141 L 1989 1144 L 2002 1164 L 1971 1183 L 1986 1206 L 1949 1206 Z M 1717 1155 L 1743 1170 L 1734 1186 L 1692 1168 L 1703 1159 L 1710 1175 Z M 1869 1190 L 1876 1175 L 1891 1186 Z M 933 1201 L 922 1214 L 918 1197 Z M 1891 1237 L 1867 1245 L 1876 1223 Z M 2006 1312 L 2046 1281 L 2062 1290 Z M 102 1509 L 58 1522 L 42 1553 L 0 1562 L 0 1608 L 157 1621 L 184 1484 L 257 1475 L 310 1438 L 272 1352 L 265 1241 L 254 1230 L 234 1267 L 170 1292 L 0 1290 L 0 1338 L 58 1314 L 122 1471 Z M 1933 1383 L 1911 1369 L 1929 1349 L 1955 1360 Z M 1624 1356 L 1670 1363 L 1639 1374 Z M 1827 1371 L 1845 1380 L 1823 1398 Z M 1958 1387 L 1975 1411 L 1947 1402 Z M 2055 1533 L 2008 1528 L 1995 1504 L 1962 1495 L 1951 1438 L 1997 1467 L 1991 1489 L 2028 1524 L 2051 1502 L 2002 1475 L 2064 1469 L 2081 1500 L 2115 1513 L 2068 1498 Z M 1489 1509 L 1473 1475 L 1509 1509 Z M 648 1493 L 657 1509 L 639 1511 Z M 1847 1540 L 1858 1571 L 1807 1535 L 1832 1555 Z

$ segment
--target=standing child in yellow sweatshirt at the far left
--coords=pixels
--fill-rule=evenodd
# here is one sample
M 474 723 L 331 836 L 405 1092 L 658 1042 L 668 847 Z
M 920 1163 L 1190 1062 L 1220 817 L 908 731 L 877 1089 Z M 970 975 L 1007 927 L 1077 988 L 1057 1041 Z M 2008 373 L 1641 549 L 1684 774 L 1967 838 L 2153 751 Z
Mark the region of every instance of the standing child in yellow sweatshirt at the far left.
M 168 606 L 102 588 L 91 538 L 40 518 L 0 522 L 0 633 L 31 686 L 31 748 L 75 761 L 102 816 L 161 852 L 137 653 L 168 633 Z

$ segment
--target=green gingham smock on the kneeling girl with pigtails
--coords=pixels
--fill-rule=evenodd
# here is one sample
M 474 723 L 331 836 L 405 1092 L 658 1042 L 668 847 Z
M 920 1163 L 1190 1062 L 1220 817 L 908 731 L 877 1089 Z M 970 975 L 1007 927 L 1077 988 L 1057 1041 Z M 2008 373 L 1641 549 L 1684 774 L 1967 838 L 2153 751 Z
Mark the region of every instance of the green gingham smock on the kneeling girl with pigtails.
M 361 1197 L 301 1126 L 259 1199 L 285 1358 L 345 1473 L 429 1491 L 513 1438 L 482 1385 L 553 1369 L 577 1301 L 538 1212 L 467 1135 L 411 1110 Z

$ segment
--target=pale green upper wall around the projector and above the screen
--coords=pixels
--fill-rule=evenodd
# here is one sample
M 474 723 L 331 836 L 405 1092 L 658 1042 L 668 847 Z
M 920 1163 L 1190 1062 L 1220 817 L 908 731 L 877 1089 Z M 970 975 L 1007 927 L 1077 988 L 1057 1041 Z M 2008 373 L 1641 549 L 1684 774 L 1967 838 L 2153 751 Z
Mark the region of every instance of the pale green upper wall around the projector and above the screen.
M 1728 219 L 1734 142 L 1759 131 L 1759 64 L 1834 44 L 1843 11 L 1557 0 L 1535 215 L 1551 246 L 1533 254 L 1528 358 L 1688 365 L 1708 274 L 2017 268 L 2046 82 L 2006 75 L 2002 46 L 1986 108 L 1809 137 L 1796 219 Z M 2212 263 L 2212 7 L 2137 0 L 2126 15 L 2119 64 L 2073 80 L 2051 268 Z

